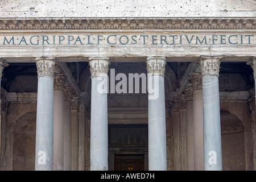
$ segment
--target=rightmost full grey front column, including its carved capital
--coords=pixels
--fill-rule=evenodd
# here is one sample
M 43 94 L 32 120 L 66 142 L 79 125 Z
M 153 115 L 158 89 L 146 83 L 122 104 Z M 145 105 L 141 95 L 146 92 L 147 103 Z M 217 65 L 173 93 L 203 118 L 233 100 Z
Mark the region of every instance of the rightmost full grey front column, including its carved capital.
M 223 56 L 200 56 L 203 79 L 204 170 L 221 171 L 221 125 L 218 72 Z

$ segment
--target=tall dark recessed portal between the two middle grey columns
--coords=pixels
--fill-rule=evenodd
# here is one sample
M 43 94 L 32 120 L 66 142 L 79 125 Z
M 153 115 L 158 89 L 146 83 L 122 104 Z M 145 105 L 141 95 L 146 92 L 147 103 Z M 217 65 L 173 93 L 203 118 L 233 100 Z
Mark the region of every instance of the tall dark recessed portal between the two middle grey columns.
M 148 168 L 147 124 L 109 125 L 109 168 L 144 171 Z

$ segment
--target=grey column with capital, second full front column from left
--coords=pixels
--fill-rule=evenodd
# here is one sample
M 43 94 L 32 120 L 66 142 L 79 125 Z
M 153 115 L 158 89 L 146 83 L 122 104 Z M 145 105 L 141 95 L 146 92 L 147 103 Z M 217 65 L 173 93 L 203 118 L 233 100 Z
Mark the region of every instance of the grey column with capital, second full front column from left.
M 90 170 L 108 170 L 109 57 L 89 57 L 92 79 L 90 117 Z

